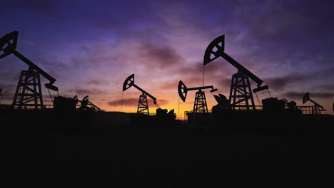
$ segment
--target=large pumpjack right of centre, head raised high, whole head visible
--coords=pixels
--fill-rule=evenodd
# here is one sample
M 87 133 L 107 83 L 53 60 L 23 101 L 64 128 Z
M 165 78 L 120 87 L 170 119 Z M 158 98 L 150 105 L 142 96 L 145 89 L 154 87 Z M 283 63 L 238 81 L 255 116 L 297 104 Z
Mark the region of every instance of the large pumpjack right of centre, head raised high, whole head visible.
M 204 54 L 203 64 L 210 63 L 218 57 L 224 58 L 228 63 L 238 68 L 238 72 L 232 75 L 231 90 L 229 101 L 231 103 L 232 110 L 256 110 L 253 100 L 253 94 L 251 90 L 251 83 L 249 78 L 251 78 L 255 83 L 257 83 L 257 88 L 253 89 L 256 92 L 261 90 L 268 90 L 268 85 L 261 86 L 263 80 L 260 80 L 256 75 L 248 71 L 248 69 L 241 66 L 236 60 L 228 56 L 224 52 L 225 50 L 225 35 L 218 36 L 215 38 L 206 48 L 206 53 Z M 269 91 L 268 91 L 269 92 Z M 269 93 L 270 95 L 270 93 Z

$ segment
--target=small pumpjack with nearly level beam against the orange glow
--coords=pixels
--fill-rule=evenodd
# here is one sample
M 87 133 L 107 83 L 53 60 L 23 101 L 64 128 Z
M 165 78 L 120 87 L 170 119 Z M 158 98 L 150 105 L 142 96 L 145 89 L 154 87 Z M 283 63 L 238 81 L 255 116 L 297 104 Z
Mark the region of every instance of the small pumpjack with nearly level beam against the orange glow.
M 211 89 L 210 92 L 213 93 L 217 89 L 213 88 L 213 85 L 187 88 L 187 86 L 180 80 L 178 82 L 178 95 L 183 102 L 186 101 L 188 90 L 198 90 L 195 95 L 195 102 L 193 103 L 193 113 L 208 113 L 208 106 L 206 105 L 206 94 L 203 90 Z M 216 100 L 220 100 L 218 95 L 215 96 Z M 218 101 L 217 101 L 218 102 Z

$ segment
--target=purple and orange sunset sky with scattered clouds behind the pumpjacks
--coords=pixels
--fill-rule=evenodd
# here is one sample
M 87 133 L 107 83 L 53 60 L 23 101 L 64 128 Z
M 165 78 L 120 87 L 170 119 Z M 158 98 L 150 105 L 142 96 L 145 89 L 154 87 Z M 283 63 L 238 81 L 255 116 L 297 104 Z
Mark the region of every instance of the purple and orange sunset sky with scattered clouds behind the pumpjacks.
M 333 6 L 290 0 L 13 0 L 1 2 L 0 35 L 19 31 L 16 50 L 56 78 L 60 95 L 79 100 L 89 95 L 103 110 L 136 112 L 141 94 L 136 88 L 123 93 L 121 105 L 123 81 L 134 73 L 136 85 L 161 108 L 183 117 L 193 108 L 195 92 L 179 102 L 178 81 L 188 88 L 203 85 L 206 47 L 225 34 L 226 53 L 268 84 L 273 97 L 312 105 L 302 103 L 310 92 L 333 114 Z M 2 103 L 11 103 L 26 68 L 14 55 L 0 60 Z M 218 58 L 206 66 L 204 84 L 228 96 L 236 71 Z M 43 93 L 50 103 L 45 88 Z M 264 91 L 258 96 L 269 97 Z M 209 109 L 216 105 L 209 90 L 206 98 Z M 155 112 L 153 103 L 149 106 Z

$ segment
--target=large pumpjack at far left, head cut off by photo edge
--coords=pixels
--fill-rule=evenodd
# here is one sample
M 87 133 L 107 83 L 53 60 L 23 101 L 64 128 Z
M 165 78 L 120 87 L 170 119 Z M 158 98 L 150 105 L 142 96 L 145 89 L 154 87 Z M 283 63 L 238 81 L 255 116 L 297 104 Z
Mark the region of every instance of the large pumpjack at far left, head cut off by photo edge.
M 58 88 L 53 85 L 56 79 L 29 61 L 29 59 L 24 57 L 21 53 L 16 51 L 17 38 L 18 31 L 13 31 L 0 38 L 0 58 L 4 58 L 13 53 L 29 66 L 27 71 L 21 71 L 12 105 L 16 109 L 26 108 L 29 106 L 34 107 L 35 109 L 43 109 L 44 105 L 41 93 L 40 75 L 43 75 L 44 78 L 49 80 L 49 83 L 45 84 L 45 87 L 48 90 L 51 89 L 58 92 Z

